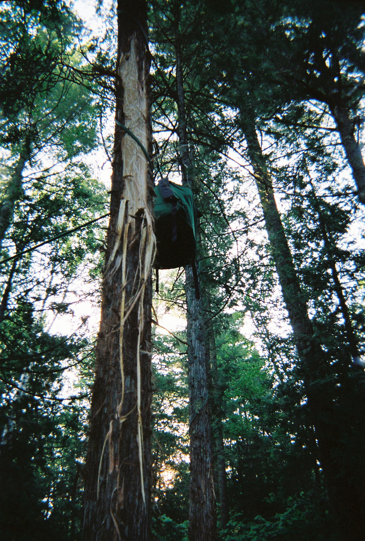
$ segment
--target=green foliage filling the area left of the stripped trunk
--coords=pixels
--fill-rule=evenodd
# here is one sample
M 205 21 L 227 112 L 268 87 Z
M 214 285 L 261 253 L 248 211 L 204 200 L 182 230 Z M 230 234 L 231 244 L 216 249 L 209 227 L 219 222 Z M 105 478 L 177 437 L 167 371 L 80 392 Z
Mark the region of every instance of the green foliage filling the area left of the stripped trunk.
M 12 2 L 2 8 L 1 28 L 5 259 L 104 214 L 105 189 L 84 157 L 98 144 L 92 96 L 64 67 L 65 58 L 81 61 L 81 24 L 62 3 Z M 94 345 L 85 333 L 90 301 L 78 305 L 97 293 L 102 238 L 90 225 L 1 263 L 4 540 L 81 536 Z

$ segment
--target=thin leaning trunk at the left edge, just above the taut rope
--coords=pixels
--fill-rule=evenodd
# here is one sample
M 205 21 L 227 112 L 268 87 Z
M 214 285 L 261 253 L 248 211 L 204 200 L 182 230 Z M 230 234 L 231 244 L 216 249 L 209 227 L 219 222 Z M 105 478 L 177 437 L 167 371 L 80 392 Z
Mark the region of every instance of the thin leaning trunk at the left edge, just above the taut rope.
M 5 237 L 6 230 L 12 222 L 15 203 L 23 195 L 23 170 L 29 160 L 29 144 L 24 143 L 17 164 L 14 167 L 5 193 L 0 201 L 0 249 Z

